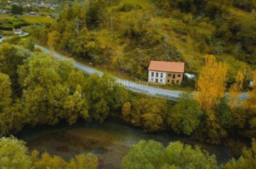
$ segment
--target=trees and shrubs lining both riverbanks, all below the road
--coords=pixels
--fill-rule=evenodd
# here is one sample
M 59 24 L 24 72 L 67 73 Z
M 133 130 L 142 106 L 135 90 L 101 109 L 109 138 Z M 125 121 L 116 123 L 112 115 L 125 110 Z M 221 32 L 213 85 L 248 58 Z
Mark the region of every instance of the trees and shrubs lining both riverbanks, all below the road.
M 217 62 L 213 56 L 208 56 L 206 59 L 198 77 L 198 93 L 194 95 L 194 98 L 188 93 L 183 93 L 177 103 L 171 103 L 160 98 L 149 98 L 129 93 L 121 86 L 109 88 L 108 81 L 113 81 L 110 77 L 100 78 L 97 74 L 90 77 L 85 76 L 81 71 L 75 69 L 70 59 L 54 59 L 47 54 L 31 52 L 21 46 L 6 42 L 0 45 L 0 53 L 0 129 L 2 136 L 15 133 L 25 125 L 32 127 L 38 124 L 54 125 L 60 120 L 74 124 L 78 118 L 88 122 L 104 122 L 107 117 L 114 115 L 148 131 L 157 132 L 171 129 L 177 134 L 186 134 L 212 144 L 219 144 L 221 141 L 232 138 L 234 134 L 236 134 L 235 138 L 252 139 L 255 137 L 256 86 L 250 91 L 250 98 L 241 103 L 239 93 L 242 88 L 243 74 L 238 72 L 236 82 L 230 88 L 230 96 L 225 97 L 225 77 L 228 66 Z M 9 161 L 9 153 L 4 153 L 8 147 L 5 144 L 14 144 L 14 147 L 21 148 L 26 158 L 19 159 L 26 159 L 29 166 L 34 165 L 36 168 L 46 168 L 46 166 L 58 168 L 58 165 L 54 165 L 58 163 L 62 163 L 63 168 L 71 165 L 70 163 L 90 168 L 87 165 L 97 163 L 97 157 L 92 154 L 81 155 L 65 163 L 62 158 L 50 156 L 48 153 L 39 157 L 35 151 L 29 155 L 30 153 L 27 152 L 22 141 L 3 138 L 0 144 L 0 147 L 3 148 L 3 153 L 1 153 L 3 168 L 9 168 L 9 166 L 17 168 L 15 166 L 18 163 Z M 240 142 L 230 141 L 230 144 L 238 146 Z M 253 140 L 252 149 L 243 150 L 239 160 L 230 161 L 225 168 L 240 165 L 255 166 L 254 145 Z M 174 165 L 174 167 L 183 168 L 188 163 L 207 167 L 208 165 L 215 166 L 213 164 L 216 163 L 214 156 L 208 156 L 199 148 L 193 149 L 189 146 L 182 146 L 181 143 L 171 143 L 171 148 L 167 147 L 164 150 L 159 143 L 142 141 L 133 146 L 130 153 L 124 158 L 124 168 L 136 168 L 139 165 L 136 163 L 129 165 L 132 163 L 132 160 L 129 160 L 133 156 L 131 154 L 134 154 L 132 150 L 135 149 L 138 152 L 137 146 L 138 148 L 143 147 L 139 149 L 142 151 L 146 163 L 149 163 L 146 165 L 149 168 L 155 168 L 155 164 L 153 158 L 146 155 L 148 152 L 144 146 L 149 146 L 149 150 L 151 146 L 159 150 L 157 152 L 161 156 L 156 155 L 156 157 L 163 157 L 163 167 Z M 184 159 L 182 167 L 181 163 L 164 161 L 165 158 L 168 159 L 168 154 L 169 158 L 173 157 L 171 149 L 178 148 L 182 153 L 182 147 L 186 153 L 191 151 L 191 153 L 198 154 L 198 158 L 206 156 L 206 158 L 202 158 L 205 163 L 196 163 L 197 158 Z M 18 153 L 17 156 L 23 156 L 20 155 L 21 151 L 18 151 L 17 148 L 12 148 L 10 153 L 14 153 L 10 156 L 16 156 L 16 153 Z M 138 158 L 140 161 L 139 158 L 142 156 L 134 156 L 134 158 Z M 87 162 L 85 165 L 78 164 L 82 163 L 80 161 Z

